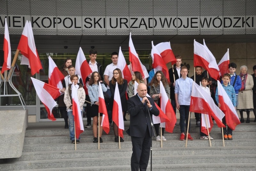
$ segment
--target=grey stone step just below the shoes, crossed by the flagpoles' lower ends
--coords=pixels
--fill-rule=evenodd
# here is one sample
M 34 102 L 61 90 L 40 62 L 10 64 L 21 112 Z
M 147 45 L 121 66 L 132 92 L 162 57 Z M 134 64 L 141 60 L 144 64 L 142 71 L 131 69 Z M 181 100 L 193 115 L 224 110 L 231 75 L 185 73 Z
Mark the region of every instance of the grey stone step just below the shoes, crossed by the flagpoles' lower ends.
M 186 141 L 179 140 L 167 140 L 163 142 L 163 147 L 185 147 Z M 221 139 L 212 140 L 213 147 L 223 146 Z M 209 147 L 209 141 L 206 140 L 193 140 L 188 141 L 188 147 Z M 232 141 L 226 140 L 225 146 L 256 146 L 255 139 L 233 139 Z M 152 147 L 161 147 L 160 142 L 152 141 Z M 36 151 L 65 151 L 74 150 L 75 145 L 71 143 L 59 143 L 59 144 L 25 144 L 23 146 L 23 152 L 36 152 Z M 103 142 L 100 143 L 100 149 L 118 149 L 119 145 L 115 142 Z M 132 148 L 131 141 L 124 141 L 121 143 L 121 148 Z M 97 143 L 81 142 L 77 144 L 77 150 L 91 150 L 98 149 Z

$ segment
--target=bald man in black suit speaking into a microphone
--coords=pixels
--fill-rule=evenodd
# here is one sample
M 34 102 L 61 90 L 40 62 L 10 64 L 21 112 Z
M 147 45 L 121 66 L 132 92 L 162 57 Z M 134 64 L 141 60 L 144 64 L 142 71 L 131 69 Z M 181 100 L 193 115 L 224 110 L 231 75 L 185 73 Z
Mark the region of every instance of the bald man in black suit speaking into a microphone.
M 146 171 L 152 135 L 149 115 L 151 118 L 152 114 L 158 116 L 159 110 L 156 108 L 154 99 L 146 97 L 146 84 L 140 83 L 137 92 L 135 96 L 127 101 L 128 112 L 130 113 L 130 128 L 126 132 L 132 139 L 131 170 L 139 171 L 140 168 L 140 171 Z

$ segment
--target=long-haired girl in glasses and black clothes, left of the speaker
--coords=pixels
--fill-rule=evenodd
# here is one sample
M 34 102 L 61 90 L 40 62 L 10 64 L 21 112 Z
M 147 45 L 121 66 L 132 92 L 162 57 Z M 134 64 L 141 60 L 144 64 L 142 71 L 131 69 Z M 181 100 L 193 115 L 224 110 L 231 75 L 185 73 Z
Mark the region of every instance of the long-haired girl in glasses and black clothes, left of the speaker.
M 109 89 L 110 89 L 110 92 L 111 92 L 109 108 L 110 108 L 111 111 L 113 109 L 116 82 L 117 82 L 118 89 L 119 89 L 122 111 L 123 111 L 123 116 L 124 116 L 124 112 L 128 110 L 127 100 L 126 100 L 126 97 L 125 97 L 125 93 L 126 93 L 126 89 L 127 89 L 127 80 L 124 80 L 122 72 L 119 68 L 116 68 L 113 71 L 113 77 L 112 77 L 111 81 L 109 82 Z M 115 124 L 115 122 L 113 123 L 113 129 L 114 129 L 114 134 L 115 134 L 115 142 L 119 142 L 118 127 Z M 121 138 L 121 137 L 120 137 L 120 142 L 124 142 L 123 138 Z

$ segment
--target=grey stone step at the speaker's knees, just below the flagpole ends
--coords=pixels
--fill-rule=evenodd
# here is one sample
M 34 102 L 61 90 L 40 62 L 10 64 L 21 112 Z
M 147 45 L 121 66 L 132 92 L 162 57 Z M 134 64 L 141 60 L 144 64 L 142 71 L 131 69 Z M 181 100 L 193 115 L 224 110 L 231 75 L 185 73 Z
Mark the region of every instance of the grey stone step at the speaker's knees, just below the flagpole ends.
M 222 155 L 222 154 L 256 154 L 254 146 L 247 147 L 176 147 L 153 148 L 153 156 L 176 155 Z M 47 159 L 75 159 L 75 158 L 99 158 L 99 157 L 127 157 L 132 155 L 131 148 L 125 149 L 100 149 L 100 150 L 69 150 L 69 151 L 43 151 L 23 152 L 20 158 L 8 161 L 47 160 Z

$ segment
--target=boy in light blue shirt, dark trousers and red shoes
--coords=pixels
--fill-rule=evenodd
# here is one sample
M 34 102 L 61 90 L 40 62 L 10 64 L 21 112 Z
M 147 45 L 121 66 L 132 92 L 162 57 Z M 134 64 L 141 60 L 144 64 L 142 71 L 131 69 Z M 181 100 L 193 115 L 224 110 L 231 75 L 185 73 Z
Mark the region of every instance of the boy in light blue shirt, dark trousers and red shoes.
M 180 69 L 181 77 L 175 82 L 175 102 L 176 107 L 180 111 L 180 140 L 185 139 L 185 120 L 186 120 L 186 130 L 188 129 L 188 140 L 193 140 L 190 136 L 190 120 L 188 120 L 189 108 L 190 108 L 190 97 L 193 80 L 188 78 L 188 68 L 182 66 Z M 188 127 L 189 122 L 189 127 Z

